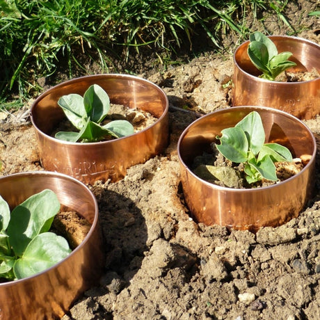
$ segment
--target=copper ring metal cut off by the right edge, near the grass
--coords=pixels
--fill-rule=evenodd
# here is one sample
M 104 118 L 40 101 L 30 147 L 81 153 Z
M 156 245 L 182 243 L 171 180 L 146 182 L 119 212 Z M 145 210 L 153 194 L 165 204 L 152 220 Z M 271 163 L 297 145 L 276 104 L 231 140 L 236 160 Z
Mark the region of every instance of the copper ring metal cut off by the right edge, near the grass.
M 320 46 L 302 38 L 271 36 L 278 52 L 290 51 L 289 59 L 296 71 L 320 73 Z M 269 106 L 286 111 L 299 119 L 314 118 L 320 111 L 320 78 L 302 82 L 268 81 L 257 77 L 260 72 L 247 54 L 249 42 L 234 52 L 234 106 Z M 292 70 L 292 68 L 291 68 Z

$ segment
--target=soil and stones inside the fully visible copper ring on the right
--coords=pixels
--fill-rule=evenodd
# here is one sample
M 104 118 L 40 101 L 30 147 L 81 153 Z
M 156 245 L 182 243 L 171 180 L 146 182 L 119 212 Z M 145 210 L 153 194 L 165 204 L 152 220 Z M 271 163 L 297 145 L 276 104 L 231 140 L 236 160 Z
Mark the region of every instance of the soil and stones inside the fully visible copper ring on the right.
M 275 162 L 278 181 L 262 179 L 249 184 L 246 181 L 243 163 L 233 163 L 223 157 L 223 154 L 218 152 L 214 143 L 211 143 L 211 150 L 212 153 L 203 152 L 201 155 L 195 157 L 191 165 L 191 170 L 193 170 L 195 175 L 198 175 L 198 177 L 207 182 L 234 189 L 254 189 L 271 186 L 278 182 L 285 181 L 289 179 L 289 177 L 293 177 L 305 166 L 300 158 L 296 158 L 292 162 Z

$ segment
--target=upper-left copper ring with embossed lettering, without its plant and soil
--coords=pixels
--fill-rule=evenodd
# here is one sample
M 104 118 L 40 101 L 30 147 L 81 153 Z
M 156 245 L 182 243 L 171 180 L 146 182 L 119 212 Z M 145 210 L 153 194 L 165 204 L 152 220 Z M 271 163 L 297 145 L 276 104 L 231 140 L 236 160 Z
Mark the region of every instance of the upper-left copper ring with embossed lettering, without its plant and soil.
M 159 118 L 136 134 L 98 143 L 67 143 L 50 136 L 64 118 L 57 102 L 69 93 L 83 95 L 97 83 L 108 93 L 112 104 L 123 104 L 152 113 Z M 43 168 L 71 175 L 93 184 L 97 179 L 115 182 L 125 177 L 127 168 L 143 163 L 168 145 L 168 98 L 154 83 L 125 74 L 99 74 L 72 79 L 49 89 L 31 107 Z

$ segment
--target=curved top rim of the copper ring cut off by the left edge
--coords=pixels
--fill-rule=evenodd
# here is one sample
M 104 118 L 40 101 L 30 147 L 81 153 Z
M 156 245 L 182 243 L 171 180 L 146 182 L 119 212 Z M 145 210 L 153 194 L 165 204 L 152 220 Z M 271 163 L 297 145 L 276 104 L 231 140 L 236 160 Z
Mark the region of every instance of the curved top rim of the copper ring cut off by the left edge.
M 90 230 L 89 230 L 88 234 L 86 235 L 85 239 L 83 239 L 83 241 L 80 243 L 79 246 L 77 246 L 77 248 L 72 250 L 70 255 L 65 257 L 65 259 L 62 259 L 61 262 L 58 262 L 57 264 L 54 264 L 54 266 L 51 266 L 50 268 L 47 268 L 44 271 L 36 273 L 35 275 L 31 275 L 27 278 L 0 283 L 0 287 L 11 286 L 13 283 L 25 282 L 25 281 L 28 281 L 32 278 L 38 277 L 39 275 L 42 275 L 43 273 L 47 273 L 47 271 L 49 271 L 51 269 L 58 268 L 58 266 L 63 264 L 63 262 L 65 262 L 65 260 L 70 259 L 70 257 L 72 257 L 74 254 L 76 254 L 77 251 L 81 250 L 81 247 L 88 241 L 88 239 L 93 234 L 95 228 L 97 227 L 97 223 L 98 223 L 99 210 L 98 210 L 98 205 L 97 205 L 97 199 L 95 198 L 95 195 L 93 195 L 93 192 L 88 188 L 88 186 L 86 186 L 86 184 L 83 184 L 83 182 L 79 181 L 78 179 L 75 179 L 74 177 L 71 177 L 70 175 L 65 175 L 64 173 L 56 173 L 56 172 L 51 172 L 51 171 L 32 171 L 32 172 L 24 172 L 24 173 L 13 173 L 12 175 L 5 175 L 3 177 L 0 177 L 0 183 L 1 183 L 1 180 L 3 180 L 3 179 L 10 179 L 10 177 L 15 177 L 15 176 L 23 177 L 24 175 L 25 176 L 37 175 L 40 177 L 41 176 L 45 177 L 45 176 L 50 175 L 50 176 L 55 176 L 55 177 L 61 177 L 62 179 L 72 180 L 72 182 L 74 182 L 75 184 L 78 184 L 79 186 L 87 189 L 88 194 L 90 194 L 90 197 L 92 198 L 91 200 L 93 200 L 93 203 L 95 205 L 95 218 L 93 219 L 93 223 L 91 224 Z

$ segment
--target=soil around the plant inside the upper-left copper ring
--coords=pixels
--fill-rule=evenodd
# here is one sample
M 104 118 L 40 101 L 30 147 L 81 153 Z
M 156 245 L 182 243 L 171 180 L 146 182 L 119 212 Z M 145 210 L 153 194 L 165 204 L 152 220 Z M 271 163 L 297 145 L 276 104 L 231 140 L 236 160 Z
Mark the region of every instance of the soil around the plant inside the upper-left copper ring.
M 113 120 L 127 120 L 134 126 L 134 132 L 141 131 L 150 125 L 153 125 L 154 122 L 157 122 L 158 118 L 154 117 L 151 113 L 143 111 L 140 109 L 132 109 L 122 104 L 111 104 L 109 114 L 106 115 L 106 118 L 102 121 L 101 125 L 106 125 L 108 122 Z M 75 128 L 72 123 L 65 118 L 65 120 L 58 123 L 54 131 L 51 133 L 51 136 L 58 131 L 79 131 Z M 112 136 L 106 136 L 101 141 L 114 140 Z

